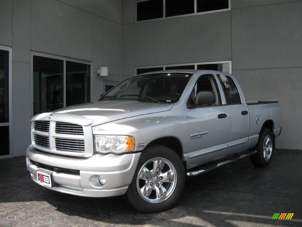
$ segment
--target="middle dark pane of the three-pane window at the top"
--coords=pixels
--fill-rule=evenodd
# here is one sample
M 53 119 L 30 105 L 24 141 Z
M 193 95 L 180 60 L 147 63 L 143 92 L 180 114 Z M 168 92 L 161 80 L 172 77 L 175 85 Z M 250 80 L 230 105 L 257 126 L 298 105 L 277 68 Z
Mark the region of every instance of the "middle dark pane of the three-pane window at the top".
M 166 17 L 194 13 L 194 0 L 166 0 Z

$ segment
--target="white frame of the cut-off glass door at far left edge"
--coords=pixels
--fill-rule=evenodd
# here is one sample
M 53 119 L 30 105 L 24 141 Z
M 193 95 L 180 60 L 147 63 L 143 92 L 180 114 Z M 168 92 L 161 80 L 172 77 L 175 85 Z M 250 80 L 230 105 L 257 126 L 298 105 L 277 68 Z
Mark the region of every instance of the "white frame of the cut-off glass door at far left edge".
M 0 159 L 11 158 L 12 157 L 12 48 L 9 46 L 0 45 L 0 50 L 8 51 L 8 122 L 0 123 L 1 126 L 8 126 L 8 138 L 9 138 L 9 150 L 7 155 L 1 155 Z

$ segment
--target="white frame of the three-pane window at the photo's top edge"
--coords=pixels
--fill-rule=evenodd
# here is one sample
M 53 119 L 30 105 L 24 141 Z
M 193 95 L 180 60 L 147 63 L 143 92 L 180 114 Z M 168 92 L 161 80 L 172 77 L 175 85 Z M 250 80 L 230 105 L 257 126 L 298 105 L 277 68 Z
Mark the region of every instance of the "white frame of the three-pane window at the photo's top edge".
M 218 9 L 218 10 L 212 10 L 212 11 L 206 11 L 206 12 L 197 12 L 197 1 L 194 0 L 194 13 L 190 14 L 183 14 L 183 15 L 177 15 L 177 16 L 171 16 L 166 17 L 166 8 L 165 8 L 165 0 L 162 0 L 163 3 L 163 17 L 162 18 L 156 18 L 156 19 L 149 19 L 144 21 L 137 21 L 137 3 L 138 2 L 146 2 L 149 0 L 136 0 L 135 1 L 135 23 L 143 23 L 143 22 L 149 22 L 149 21 L 159 21 L 159 20 L 166 20 L 166 19 L 172 19 L 172 18 L 179 18 L 179 17 L 188 17 L 188 16 L 195 16 L 195 15 L 202 15 L 202 14 L 208 14 L 208 13 L 217 13 L 217 12 L 224 12 L 224 11 L 230 11 L 231 10 L 231 0 L 229 1 L 229 8 L 227 9 Z

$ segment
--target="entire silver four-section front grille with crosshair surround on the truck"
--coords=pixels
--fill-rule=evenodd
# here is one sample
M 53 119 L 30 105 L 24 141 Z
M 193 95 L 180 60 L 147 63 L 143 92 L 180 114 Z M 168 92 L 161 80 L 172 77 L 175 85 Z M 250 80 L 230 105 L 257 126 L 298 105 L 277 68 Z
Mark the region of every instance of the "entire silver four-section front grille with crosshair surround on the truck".
M 31 123 L 32 145 L 41 151 L 76 157 L 90 157 L 93 155 L 93 135 L 91 123 L 82 116 L 70 114 L 68 121 L 66 114 L 55 113 L 59 117 L 41 117 Z M 54 114 L 54 115 L 55 115 Z M 59 120 L 59 121 L 56 121 Z M 62 120 L 62 121 L 60 121 Z

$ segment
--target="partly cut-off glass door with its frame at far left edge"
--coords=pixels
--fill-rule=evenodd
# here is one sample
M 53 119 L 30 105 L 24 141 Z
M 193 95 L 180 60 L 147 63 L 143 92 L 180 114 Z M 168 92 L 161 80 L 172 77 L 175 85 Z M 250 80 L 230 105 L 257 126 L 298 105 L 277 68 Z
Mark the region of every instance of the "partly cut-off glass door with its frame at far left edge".
M 0 159 L 10 157 L 11 48 L 0 45 Z

